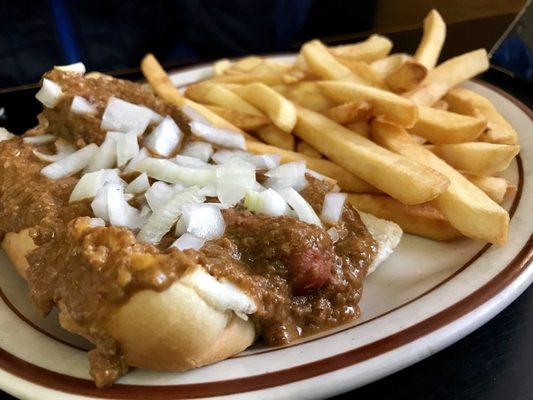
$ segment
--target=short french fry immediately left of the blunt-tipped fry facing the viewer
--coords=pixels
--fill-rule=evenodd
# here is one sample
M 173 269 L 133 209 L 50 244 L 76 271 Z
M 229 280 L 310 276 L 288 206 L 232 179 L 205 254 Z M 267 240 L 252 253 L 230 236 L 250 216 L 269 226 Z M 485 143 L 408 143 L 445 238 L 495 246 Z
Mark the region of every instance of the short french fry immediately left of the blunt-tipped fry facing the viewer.
M 222 84 L 203 82 L 190 85 L 185 90 L 185 97 L 200 103 L 225 107 L 241 113 L 255 115 L 257 117 L 265 116 L 257 108 Z

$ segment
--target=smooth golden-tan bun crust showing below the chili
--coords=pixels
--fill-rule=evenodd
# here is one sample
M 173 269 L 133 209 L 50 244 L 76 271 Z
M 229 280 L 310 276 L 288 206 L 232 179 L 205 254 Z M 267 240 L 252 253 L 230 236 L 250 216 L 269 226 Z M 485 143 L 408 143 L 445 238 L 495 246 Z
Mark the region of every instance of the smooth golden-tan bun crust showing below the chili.
M 36 248 L 28 230 L 6 234 L 2 247 L 24 277 L 26 254 Z M 254 342 L 252 321 L 204 300 L 187 279 L 195 272 L 207 274 L 200 266 L 190 268 L 162 292 L 135 293 L 110 317 L 107 333 L 120 344 L 128 365 L 182 371 L 229 358 Z M 61 325 L 83 335 L 60 306 Z

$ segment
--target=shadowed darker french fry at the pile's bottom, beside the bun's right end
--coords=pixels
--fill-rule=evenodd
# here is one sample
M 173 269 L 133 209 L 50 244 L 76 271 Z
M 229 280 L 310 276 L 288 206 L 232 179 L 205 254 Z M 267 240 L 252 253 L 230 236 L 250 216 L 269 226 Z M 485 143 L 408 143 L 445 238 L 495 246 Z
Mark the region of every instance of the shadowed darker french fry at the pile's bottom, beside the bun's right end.
M 434 240 L 463 237 L 433 202 L 407 206 L 389 196 L 348 193 L 348 201 L 360 211 L 396 222 L 407 233 Z

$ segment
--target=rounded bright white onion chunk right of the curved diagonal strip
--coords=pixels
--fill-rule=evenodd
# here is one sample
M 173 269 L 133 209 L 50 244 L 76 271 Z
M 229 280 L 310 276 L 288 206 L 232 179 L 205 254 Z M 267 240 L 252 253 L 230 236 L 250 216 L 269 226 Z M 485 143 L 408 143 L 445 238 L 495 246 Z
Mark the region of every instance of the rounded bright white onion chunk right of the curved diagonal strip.
M 221 237 L 226 229 L 220 208 L 209 203 L 185 204 L 182 210 L 183 224 L 194 236 L 211 240 Z

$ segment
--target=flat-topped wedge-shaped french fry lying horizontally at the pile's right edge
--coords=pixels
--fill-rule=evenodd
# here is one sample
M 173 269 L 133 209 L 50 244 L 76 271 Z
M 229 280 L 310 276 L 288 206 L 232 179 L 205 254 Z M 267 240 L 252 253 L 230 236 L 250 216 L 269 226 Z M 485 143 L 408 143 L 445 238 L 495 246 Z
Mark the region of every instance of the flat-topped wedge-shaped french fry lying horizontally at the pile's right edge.
M 516 144 L 468 142 L 426 146 L 452 167 L 474 175 L 493 175 L 507 169 L 520 151 Z

